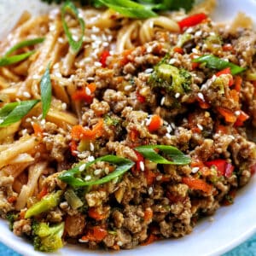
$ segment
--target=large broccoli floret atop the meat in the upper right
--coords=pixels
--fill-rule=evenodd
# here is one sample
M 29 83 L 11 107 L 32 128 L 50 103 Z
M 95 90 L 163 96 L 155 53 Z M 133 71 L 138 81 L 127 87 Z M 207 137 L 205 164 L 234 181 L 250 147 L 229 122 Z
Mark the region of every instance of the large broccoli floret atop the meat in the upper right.
M 178 69 L 161 61 L 154 67 L 148 84 L 152 88 L 164 89 L 167 93 L 184 94 L 190 90 L 191 74 L 183 68 Z

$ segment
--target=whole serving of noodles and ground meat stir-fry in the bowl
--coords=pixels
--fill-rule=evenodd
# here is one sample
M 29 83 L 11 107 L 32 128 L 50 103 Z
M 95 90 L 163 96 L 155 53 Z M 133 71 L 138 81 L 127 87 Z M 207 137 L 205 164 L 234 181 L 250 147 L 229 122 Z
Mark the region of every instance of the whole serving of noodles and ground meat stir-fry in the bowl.
M 21 17 L 0 59 L 0 212 L 15 235 L 44 252 L 127 249 L 232 203 L 256 169 L 256 34 L 206 13 L 67 2 Z

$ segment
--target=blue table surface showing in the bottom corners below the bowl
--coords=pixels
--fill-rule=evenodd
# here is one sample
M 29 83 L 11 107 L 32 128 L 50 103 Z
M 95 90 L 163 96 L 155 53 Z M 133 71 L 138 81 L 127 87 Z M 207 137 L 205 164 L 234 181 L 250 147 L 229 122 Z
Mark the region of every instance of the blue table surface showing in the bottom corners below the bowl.
M 11 248 L 4 246 L 2 243 L 0 243 L 0 255 L 20 256 L 19 253 L 15 253 Z M 223 256 L 256 256 L 256 235 Z

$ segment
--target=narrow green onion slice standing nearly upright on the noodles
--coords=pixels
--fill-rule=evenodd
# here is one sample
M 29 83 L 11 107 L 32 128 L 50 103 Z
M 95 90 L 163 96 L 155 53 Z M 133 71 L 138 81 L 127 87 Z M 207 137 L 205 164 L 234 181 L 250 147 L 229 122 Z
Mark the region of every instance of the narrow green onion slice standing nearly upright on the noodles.
M 49 65 L 46 67 L 44 75 L 40 82 L 40 91 L 42 98 L 42 108 L 43 108 L 43 119 L 45 119 L 46 114 L 49 111 L 51 102 L 51 82 L 49 77 Z

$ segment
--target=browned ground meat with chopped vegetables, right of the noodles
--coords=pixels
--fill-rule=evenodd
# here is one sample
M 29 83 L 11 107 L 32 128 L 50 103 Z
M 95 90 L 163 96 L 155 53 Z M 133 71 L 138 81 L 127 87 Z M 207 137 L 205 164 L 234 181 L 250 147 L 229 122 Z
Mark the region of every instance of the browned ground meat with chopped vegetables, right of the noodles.
M 106 44 L 98 61 L 64 74 L 79 113 L 52 104 L 75 113 L 77 124 L 60 125 L 53 114 L 32 119 L 37 107 L 32 123 L 22 121 L 39 165 L 25 205 L 17 206 L 16 176 L 1 177 L 0 212 L 15 235 L 46 252 L 63 241 L 130 249 L 185 236 L 233 203 L 256 171 L 247 137 L 256 125 L 256 33 L 217 26 L 204 14 L 177 25 L 179 32 L 158 30 L 121 53 Z M 31 167 L 21 168 L 17 176 L 29 180 Z

